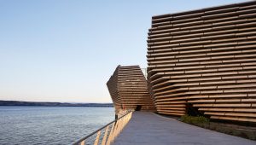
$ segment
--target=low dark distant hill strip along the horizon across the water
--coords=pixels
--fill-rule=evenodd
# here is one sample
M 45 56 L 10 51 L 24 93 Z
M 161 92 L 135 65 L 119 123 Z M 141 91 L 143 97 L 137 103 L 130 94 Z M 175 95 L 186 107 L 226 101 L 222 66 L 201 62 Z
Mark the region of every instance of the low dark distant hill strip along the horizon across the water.
M 0 106 L 113 107 L 113 103 L 17 102 L 17 101 L 1 101 L 0 100 Z

